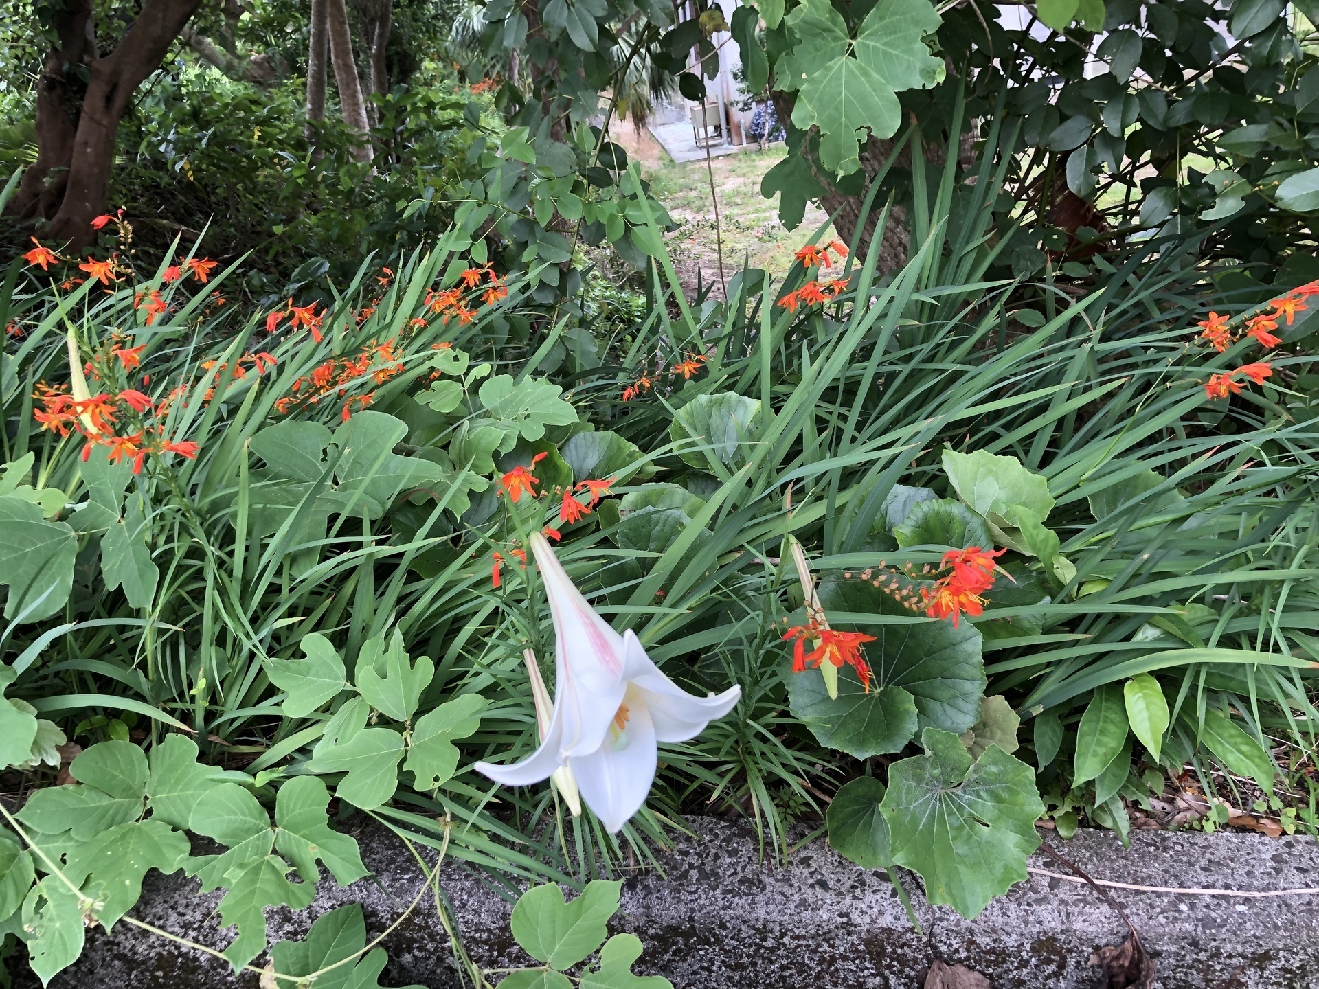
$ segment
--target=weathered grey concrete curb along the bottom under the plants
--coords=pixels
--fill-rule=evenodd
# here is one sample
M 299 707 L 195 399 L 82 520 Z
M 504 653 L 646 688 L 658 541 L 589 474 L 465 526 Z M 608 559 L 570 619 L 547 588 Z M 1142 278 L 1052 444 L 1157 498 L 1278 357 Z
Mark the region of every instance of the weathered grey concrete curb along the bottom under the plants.
M 933 959 L 984 972 L 995 989 L 1088 989 L 1091 953 L 1117 944 L 1125 928 L 1092 890 L 1033 877 L 991 903 L 976 920 L 914 897 L 926 938 L 907 922 L 882 873 L 865 872 L 823 841 L 787 869 L 756 861 L 744 828 L 692 822 L 696 840 L 662 857 L 667 878 L 634 876 L 624 887 L 619 931 L 646 945 L 638 972 L 662 973 L 678 989 L 918 989 Z M 412 856 L 377 831 L 359 833 L 379 880 L 350 889 L 322 886 L 302 916 L 269 911 L 272 942 L 301 936 L 324 910 L 359 901 L 368 930 L 384 930 L 422 882 Z M 1136 832 L 1122 851 L 1104 832 L 1080 832 L 1059 851 L 1096 878 L 1140 885 L 1240 890 L 1319 886 L 1319 843 L 1257 835 Z M 1058 872 L 1043 856 L 1033 865 Z M 484 965 L 530 964 L 508 931 L 512 905 L 470 872 L 446 868 L 445 887 L 468 951 Z M 915 881 L 907 876 L 910 889 Z M 197 897 L 195 880 L 153 874 L 135 913 L 189 938 L 223 945 L 212 914 L 219 897 Z M 1158 961 L 1162 989 L 1319 989 L 1319 897 L 1228 899 L 1115 890 Z M 385 942 L 385 985 L 455 985 L 447 942 L 425 901 Z M 17 985 L 36 985 L 30 973 Z M 87 951 L 51 989 L 161 989 L 244 985 L 224 963 L 116 927 L 94 932 Z

